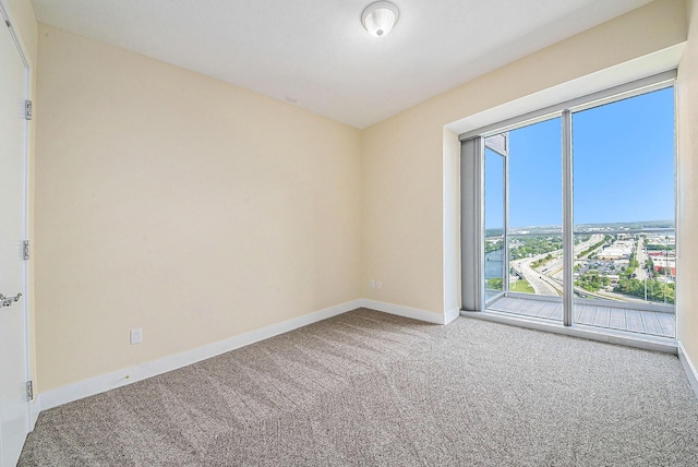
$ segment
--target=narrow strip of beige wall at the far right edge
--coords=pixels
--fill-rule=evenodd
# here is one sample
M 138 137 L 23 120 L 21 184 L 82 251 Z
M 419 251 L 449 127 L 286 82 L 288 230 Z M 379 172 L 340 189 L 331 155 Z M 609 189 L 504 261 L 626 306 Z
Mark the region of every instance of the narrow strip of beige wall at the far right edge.
M 698 1 L 688 2 L 688 44 L 678 69 L 678 340 L 698 364 Z

